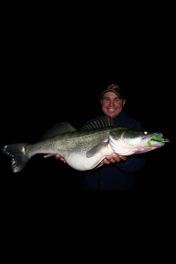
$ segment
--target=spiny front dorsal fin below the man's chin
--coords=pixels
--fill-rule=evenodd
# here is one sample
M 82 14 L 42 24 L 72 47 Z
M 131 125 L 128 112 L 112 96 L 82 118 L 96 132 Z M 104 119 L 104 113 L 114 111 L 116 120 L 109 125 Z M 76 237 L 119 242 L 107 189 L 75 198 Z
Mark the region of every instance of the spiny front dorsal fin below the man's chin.
M 97 119 L 89 121 L 87 124 L 85 124 L 81 129 L 87 130 L 87 129 L 93 129 L 93 128 L 103 128 L 105 126 L 113 126 L 114 120 L 111 119 L 110 116 L 108 117 L 98 117 Z

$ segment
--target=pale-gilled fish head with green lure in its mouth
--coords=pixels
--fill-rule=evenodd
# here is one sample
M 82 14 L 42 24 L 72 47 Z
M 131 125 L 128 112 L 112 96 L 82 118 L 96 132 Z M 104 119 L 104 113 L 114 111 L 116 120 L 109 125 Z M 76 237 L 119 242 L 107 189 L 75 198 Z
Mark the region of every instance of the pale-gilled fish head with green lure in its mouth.
M 112 133 L 110 132 L 111 148 L 115 153 L 124 156 L 145 153 L 163 147 L 165 142 L 162 133 L 141 131 L 125 127 L 121 127 L 121 134 L 118 129 L 112 131 Z

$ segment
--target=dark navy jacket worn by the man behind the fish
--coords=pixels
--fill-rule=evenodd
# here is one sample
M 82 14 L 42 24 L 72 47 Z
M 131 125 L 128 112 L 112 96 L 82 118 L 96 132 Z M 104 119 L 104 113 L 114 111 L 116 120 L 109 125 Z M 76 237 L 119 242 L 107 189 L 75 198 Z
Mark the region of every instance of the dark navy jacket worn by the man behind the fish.
M 89 122 L 89 121 L 88 121 Z M 142 130 L 139 122 L 127 117 L 122 111 L 114 119 L 114 125 Z M 87 172 L 82 190 L 134 190 L 134 174 L 145 165 L 142 154 L 127 156 L 126 161 L 103 164 L 98 169 Z

